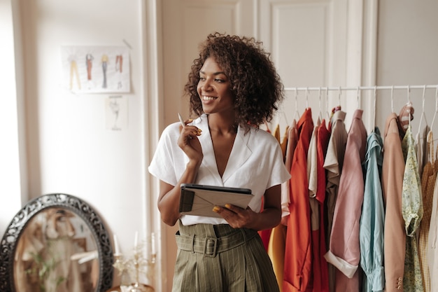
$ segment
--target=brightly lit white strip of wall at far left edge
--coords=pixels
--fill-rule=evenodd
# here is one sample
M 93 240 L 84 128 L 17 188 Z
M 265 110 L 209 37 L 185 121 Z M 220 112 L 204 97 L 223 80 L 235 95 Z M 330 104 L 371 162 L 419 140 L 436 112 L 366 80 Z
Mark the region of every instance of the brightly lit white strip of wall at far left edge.
M 16 48 L 20 46 L 20 39 L 14 36 L 13 2 L 0 1 L 0 55 L 2 56 L 0 81 L 1 81 L 1 115 L 0 125 L 0 232 L 6 229 L 12 217 L 22 204 L 22 179 L 25 180 L 25 166 L 20 160 L 20 145 L 24 144 L 24 125 L 22 125 L 22 83 L 20 76 L 20 60 L 15 60 Z M 20 115 L 21 114 L 21 115 Z M 20 143 L 21 140 L 21 143 Z M 24 154 L 24 151 L 21 152 Z

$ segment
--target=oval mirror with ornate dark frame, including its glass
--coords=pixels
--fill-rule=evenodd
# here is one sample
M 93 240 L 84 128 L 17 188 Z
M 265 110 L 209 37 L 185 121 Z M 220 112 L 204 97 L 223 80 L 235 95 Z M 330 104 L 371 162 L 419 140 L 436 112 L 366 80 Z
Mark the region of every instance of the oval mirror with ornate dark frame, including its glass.
M 113 251 L 99 215 L 78 197 L 27 203 L 0 243 L 2 292 L 99 292 L 113 283 Z

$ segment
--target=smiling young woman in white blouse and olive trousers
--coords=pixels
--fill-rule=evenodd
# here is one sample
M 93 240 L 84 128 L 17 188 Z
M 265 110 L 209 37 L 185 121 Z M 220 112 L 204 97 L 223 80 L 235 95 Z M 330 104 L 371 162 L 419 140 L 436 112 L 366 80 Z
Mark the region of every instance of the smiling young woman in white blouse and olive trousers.
M 257 234 L 280 223 L 281 183 L 290 179 L 278 141 L 259 129 L 283 99 L 269 53 L 253 38 L 211 34 L 185 92 L 195 120 L 169 125 L 149 166 L 162 221 L 179 224 L 172 291 L 278 291 Z M 254 197 L 246 209 L 212 207 L 221 218 L 182 215 L 181 183 L 250 188 Z

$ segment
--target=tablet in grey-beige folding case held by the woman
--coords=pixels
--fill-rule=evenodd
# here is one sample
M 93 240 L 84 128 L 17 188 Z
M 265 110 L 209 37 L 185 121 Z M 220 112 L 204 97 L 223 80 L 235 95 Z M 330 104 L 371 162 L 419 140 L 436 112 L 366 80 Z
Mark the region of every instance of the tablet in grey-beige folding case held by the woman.
M 249 188 L 205 186 L 195 183 L 181 184 L 179 211 L 181 214 L 222 218 L 213 207 L 225 204 L 246 209 L 253 198 Z

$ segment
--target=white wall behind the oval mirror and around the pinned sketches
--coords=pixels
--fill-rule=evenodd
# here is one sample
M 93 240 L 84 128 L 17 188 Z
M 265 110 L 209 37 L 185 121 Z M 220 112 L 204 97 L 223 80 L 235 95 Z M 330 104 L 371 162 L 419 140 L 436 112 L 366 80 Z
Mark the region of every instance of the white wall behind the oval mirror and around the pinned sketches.
M 148 131 L 144 128 L 148 120 L 143 39 L 146 3 L 1 0 L 0 8 L 1 39 L 6 43 L 1 46 L 5 58 L 2 67 L 6 69 L 1 70 L 0 77 L 6 85 L 2 85 L 3 93 L 10 97 L 2 101 L 7 115 L 1 115 L 0 120 L 8 130 L 3 131 L 8 143 L 2 142 L 0 151 L 1 181 L 7 182 L 1 195 L 1 234 L 29 200 L 47 193 L 67 193 L 90 203 L 101 214 L 110 234 L 117 234 L 122 252 L 131 254 L 136 231 L 140 238 L 146 234 L 150 238 L 150 210 L 155 208 L 150 204 L 155 200 L 150 200 L 146 186 L 149 160 Z M 15 39 L 13 29 L 17 31 Z M 21 38 L 22 52 L 20 47 L 14 48 L 14 42 Z M 106 129 L 105 107 L 111 94 L 70 92 L 64 86 L 60 48 L 126 43 L 130 60 L 125 62 L 130 64 L 132 79 L 131 92 L 122 97 L 128 104 L 128 125 L 121 131 L 112 131 Z M 19 64 L 24 62 L 25 112 L 21 115 L 17 109 L 20 95 L 15 85 L 15 69 L 19 67 L 15 59 Z M 17 130 L 20 118 L 25 122 L 25 131 Z M 24 174 L 19 173 L 18 161 L 21 133 L 25 134 L 27 148 L 24 154 L 28 171 Z M 22 158 L 26 159 L 25 155 Z M 3 160 L 3 156 L 8 160 Z M 4 165 L 3 161 L 8 163 Z M 21 200 L 22 179 L 26 184 Z

